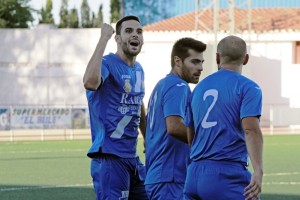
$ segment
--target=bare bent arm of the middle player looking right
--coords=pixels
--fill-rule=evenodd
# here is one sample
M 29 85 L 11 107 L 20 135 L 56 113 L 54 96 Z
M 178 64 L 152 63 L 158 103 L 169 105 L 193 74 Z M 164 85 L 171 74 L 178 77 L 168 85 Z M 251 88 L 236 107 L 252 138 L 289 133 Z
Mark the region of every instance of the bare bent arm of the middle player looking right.
M 188 143 L 187 127 L 180 116 L 168 116 L 166 118 L 167 132 L 178 140 Z

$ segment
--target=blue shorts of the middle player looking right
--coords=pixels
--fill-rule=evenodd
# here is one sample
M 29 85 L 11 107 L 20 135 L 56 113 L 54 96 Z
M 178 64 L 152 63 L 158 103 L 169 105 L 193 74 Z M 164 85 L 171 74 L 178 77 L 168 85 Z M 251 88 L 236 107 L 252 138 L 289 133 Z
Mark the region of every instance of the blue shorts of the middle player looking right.
M 147 184 L 146 191 L 149 199 L 155 200 L 182 200 L 183 183 L 155 183 Z

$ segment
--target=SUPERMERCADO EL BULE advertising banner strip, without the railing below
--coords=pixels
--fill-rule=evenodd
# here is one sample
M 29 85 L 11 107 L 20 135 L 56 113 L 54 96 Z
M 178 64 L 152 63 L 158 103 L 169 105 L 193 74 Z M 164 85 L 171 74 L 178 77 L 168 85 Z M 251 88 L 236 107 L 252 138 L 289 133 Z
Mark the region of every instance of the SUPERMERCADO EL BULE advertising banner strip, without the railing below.
M 85 106 L 0 107 L 0 130 L 89 128 Z

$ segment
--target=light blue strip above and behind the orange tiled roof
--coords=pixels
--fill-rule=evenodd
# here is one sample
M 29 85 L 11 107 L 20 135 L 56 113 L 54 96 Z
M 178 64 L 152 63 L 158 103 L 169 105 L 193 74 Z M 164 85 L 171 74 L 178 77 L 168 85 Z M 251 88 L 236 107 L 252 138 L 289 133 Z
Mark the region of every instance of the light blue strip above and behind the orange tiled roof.
M 220 9 L 228 9 L 233 4 L 238 9 L 300 7 L 299 0 L 126 0 L 122 5 L 124 15 L 136 15 L 142 24 L 149 25 L 214 4 Z

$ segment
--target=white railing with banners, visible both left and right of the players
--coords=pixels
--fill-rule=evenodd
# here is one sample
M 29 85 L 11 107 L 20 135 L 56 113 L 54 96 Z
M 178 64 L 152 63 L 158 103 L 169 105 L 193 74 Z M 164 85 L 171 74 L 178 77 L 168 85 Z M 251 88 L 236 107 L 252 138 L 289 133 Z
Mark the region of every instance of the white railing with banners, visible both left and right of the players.
M 300 133 L 300 108 L 263 105 L 264 134 Z M 90 139 L 86 105 L 0 105 L 0 141 Z

